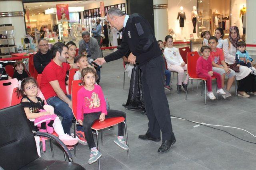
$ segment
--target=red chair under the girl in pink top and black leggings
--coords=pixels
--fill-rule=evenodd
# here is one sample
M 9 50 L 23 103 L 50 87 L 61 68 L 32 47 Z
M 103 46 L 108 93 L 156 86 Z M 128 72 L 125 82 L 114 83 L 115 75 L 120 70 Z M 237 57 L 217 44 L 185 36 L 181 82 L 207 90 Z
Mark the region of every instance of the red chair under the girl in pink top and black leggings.
M 77 106 L 77 92 L 78 92 L 78 90 L 80 90 L 80 88 L 82 88 L 82 86 L 80 86 L 80 83 L 82 83 L 82 80 L 73 80 L 72 81 L 72 94 L 71 94 L 71 96 L 72 96 L 72 111 L 73 111 L 75 118 L 76 118 L 76 106 Z M 98 131 L 101 130 L 101 140 L 102 140 L 102 145 L 103 145 L 103 129 L 108 128 L 110 126 L 117 125 L 118 123 L 122 123 L 122 122 L 124 122 L 124 117 L 113 117 L 113 118 L 105 119 L 102 122 L 99 122 L 99 121 L 94 122 L 94 124 L 92 125 L 92 129 L 94 129 L 96 131 L 97 149 L 98 150 L 100 150 Z M 79 125 L 79 123 L 77 122 L 77 118 L 76 118 L 76 123 L 74 124 L 74 134 L 76 134 L 76 126 L 77 125 Z M 125 125 L 126 143 L 127 143 L 127 146 L 129 146 L 127 127 L 126 127 L 125 122 L 124 122 L 124 125 Z M 127 155 L 129 156 L 129 150 L 127 150 Z M 74 156 L 76 156 L 76 145 L 74 147 Z M 98 160 L 98 166 L 100 169 L 100 159 Z

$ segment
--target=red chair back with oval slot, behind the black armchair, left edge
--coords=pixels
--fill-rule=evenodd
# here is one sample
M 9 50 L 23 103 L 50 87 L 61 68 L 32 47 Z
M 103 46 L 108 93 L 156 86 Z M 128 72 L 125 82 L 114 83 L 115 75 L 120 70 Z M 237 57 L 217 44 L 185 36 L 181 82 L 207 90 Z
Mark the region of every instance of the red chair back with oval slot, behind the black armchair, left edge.
M 0 81 L 0 109 L 11 106 L 13 89 L 18 87 L 17 78 Z

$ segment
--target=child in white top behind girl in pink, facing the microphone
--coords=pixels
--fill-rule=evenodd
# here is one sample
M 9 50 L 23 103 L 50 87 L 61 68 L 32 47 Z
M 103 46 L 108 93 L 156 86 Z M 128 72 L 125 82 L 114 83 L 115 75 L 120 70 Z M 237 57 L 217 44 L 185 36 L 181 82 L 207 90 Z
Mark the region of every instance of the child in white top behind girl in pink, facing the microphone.
M 90 67 L 93 68 L 87 61 L 87 53 L 86 51 L 82 52 L 81 55 L 75 57 L 74 63 L 78 66 L 79 70 L 74 74 L 74 80 L 81 80 L 81 72 L 83 68 Z M 93 68 L 94 69 L 94 68 Z

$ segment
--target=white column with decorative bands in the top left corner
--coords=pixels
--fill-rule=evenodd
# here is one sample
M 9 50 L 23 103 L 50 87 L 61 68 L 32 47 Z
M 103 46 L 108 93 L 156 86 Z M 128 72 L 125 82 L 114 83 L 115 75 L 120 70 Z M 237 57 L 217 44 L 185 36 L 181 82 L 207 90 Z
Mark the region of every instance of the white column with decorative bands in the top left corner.
M 15 44 L 21 44 L 21 38 L 25 37 L 25 23 L 22 0 L 0 1 L 0 23 L 14 26 Z M 17 13 L 18 12 L 18 13 Z M 7 16 L 4 16 L 7 15 Z

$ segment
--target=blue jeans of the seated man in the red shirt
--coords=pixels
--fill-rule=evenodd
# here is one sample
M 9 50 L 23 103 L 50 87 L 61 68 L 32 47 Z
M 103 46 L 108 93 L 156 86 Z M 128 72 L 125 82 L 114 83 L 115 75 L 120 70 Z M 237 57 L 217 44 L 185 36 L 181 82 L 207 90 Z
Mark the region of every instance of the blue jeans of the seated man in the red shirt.
M 70 95 L 66 95 L 66 96 L 71 100 Z M 72 126 L 72 119 L 74 117 L 72 109 L 68 106 L 66 102 L 61 100 L 58 96 L 48 98 L 46 102 L 47 104 L 54 107 L 54 113 L 63 117 L 61 124 L 64 130 L 64 133 L 67 133 L 70 135 L 70 128 Z M 78 126 L 77 130 L 79 129 L 82 130 L 82 126 Z

